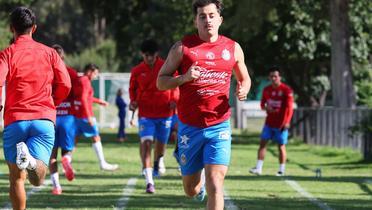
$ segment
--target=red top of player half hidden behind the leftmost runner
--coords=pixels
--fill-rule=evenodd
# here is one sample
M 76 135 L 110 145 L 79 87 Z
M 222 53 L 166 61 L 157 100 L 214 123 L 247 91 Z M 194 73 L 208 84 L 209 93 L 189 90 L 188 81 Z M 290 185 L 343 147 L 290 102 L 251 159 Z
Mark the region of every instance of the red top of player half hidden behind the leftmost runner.
M 70 75 L 71 79 L 71 91 L 70 94 L 67 96 L 67 98 L 57 106 L 57 116 L 63 116 L 63 115 L 73 115 L 74 109 L 73 109 L 73 103 L 74 103 L 74 83 L 76 83 L 76 80 L 78 79 L 78 75 L 75 69 L 66 66 L 68 74 Z

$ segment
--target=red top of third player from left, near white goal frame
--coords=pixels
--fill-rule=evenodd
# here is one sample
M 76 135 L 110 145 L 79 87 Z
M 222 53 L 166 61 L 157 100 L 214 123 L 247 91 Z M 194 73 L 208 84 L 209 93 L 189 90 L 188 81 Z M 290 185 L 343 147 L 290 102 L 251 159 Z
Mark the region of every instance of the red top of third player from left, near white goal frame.
M 93 103 L 100 100 L 94 97 L 94 89 L 88 76 L 78 77 L 74 84 L 74 115 L 77 118 L 94 117 Z

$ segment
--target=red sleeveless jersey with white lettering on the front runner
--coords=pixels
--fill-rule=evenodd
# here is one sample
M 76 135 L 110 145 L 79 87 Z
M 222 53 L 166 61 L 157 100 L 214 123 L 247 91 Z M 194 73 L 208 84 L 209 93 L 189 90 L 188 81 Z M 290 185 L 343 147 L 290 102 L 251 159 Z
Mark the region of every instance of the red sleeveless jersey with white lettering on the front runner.
M 229 89 L 235 41 L 219 36 L 209 43 L 197 35 L 182 40 L 181 74 L 197 63 L 202 68 L 200 77 L 181 85 L 178 117 L 182 123 L 195 127 L 209 127 L 230 118 Z

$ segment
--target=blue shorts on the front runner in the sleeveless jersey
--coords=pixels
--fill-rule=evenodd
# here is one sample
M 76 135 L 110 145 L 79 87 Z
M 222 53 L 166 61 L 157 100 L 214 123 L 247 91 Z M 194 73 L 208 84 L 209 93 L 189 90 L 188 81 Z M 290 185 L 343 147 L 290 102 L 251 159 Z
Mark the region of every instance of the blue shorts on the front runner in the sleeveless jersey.
M 231 127 L 225 121 L 207 128 L 197 128 L 178 121 L 177 160 L 182 175 L 191 175 L 205 164 L 230 164 Z

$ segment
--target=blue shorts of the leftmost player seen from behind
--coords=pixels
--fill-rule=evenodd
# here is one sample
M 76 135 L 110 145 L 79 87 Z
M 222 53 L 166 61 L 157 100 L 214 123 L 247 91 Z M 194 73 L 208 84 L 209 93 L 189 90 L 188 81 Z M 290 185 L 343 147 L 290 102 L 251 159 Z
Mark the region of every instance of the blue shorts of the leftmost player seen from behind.
M 22 120 L 11 123 L 4 129 L 4 156 L 16 163 L 17 143 L 25 142 L 35 159 L 49 165 L 55 138 L 54 123 L 50 120 Z

